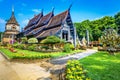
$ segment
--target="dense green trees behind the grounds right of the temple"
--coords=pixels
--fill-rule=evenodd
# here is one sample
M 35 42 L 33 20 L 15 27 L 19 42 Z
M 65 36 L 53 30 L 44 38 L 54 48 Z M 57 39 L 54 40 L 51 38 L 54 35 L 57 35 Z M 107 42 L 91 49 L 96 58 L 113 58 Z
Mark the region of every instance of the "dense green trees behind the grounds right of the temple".
M 86 37 L 86 30 L 89 31 L 90 40 L 96 41 L 102 35 L 103 30 L 111 26 L 116 29 L 115 18 L 105 16 L 98 20 L 89 21 L 85 20 L 81 23 L 75 23 L 77 34 L 79 38 Z

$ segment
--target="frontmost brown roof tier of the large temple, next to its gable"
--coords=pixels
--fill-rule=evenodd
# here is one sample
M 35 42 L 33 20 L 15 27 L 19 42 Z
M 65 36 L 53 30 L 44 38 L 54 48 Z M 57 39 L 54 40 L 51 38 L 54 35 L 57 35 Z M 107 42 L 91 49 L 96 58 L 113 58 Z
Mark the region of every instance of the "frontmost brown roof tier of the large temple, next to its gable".
M 67 16 L 68 10 L 52 17 L 48 25 L 45 26 L 45 30 L 36 37 L 42 38 L 50 35 L 55 35 L 62 28 L 62 22 L 66 20 Z

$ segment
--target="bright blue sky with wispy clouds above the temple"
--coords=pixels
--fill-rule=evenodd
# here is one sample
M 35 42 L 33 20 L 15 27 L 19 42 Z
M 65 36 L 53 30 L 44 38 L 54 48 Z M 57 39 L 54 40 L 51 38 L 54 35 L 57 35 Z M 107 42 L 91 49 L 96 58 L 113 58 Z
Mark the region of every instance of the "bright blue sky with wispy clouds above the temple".
M 0 0 L 0 31 L 5 30 L 5 21 L 11 16 L 14 5 L 15 16 L 20 27 L 25 27 L 29 19 L 44 9 L 44 15 L 54 7 L 54 14 L 59 14 L 71 7 L 73 22 L 95 20 L 103 16 L 114 16 L 120 12 L 120 0 Z

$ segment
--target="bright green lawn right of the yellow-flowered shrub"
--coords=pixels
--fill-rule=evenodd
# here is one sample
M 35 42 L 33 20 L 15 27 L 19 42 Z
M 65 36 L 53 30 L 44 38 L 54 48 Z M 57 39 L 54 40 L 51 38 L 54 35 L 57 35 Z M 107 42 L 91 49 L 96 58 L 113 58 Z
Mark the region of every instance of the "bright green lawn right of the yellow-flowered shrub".
M 79 61 L 92 80 L 120 80 L 120 52 L 115 56 L 97 52 Z

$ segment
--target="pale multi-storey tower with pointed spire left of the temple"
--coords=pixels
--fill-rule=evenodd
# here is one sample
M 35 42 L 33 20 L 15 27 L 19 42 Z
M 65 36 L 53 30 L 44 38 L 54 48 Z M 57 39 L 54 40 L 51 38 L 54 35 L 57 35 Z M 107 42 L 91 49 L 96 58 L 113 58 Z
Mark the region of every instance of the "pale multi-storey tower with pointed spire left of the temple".
M 14 8 L 12 8 L 12 15 L 5 25 L 5 32 L 3 35 L 3 43 L 11 43 L 15 40 L 16 35 L 20 32 L 20 26 L 14 15 Z

